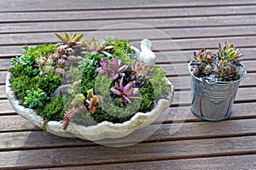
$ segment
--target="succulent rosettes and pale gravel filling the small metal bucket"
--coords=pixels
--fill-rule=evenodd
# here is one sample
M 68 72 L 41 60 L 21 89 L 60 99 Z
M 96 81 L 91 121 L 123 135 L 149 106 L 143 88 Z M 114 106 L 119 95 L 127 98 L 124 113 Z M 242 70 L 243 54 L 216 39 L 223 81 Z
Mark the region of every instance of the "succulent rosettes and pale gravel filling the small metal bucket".
M 241 77 L 241 52 L 233 43 L 218 43 L 218 52 L 213 54 L 207 49 L 194 53 L 190 62 L 190 71 L 195 77 L 207 82 L 232 82 Z

